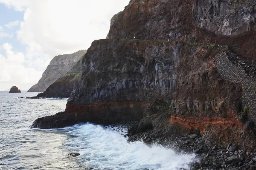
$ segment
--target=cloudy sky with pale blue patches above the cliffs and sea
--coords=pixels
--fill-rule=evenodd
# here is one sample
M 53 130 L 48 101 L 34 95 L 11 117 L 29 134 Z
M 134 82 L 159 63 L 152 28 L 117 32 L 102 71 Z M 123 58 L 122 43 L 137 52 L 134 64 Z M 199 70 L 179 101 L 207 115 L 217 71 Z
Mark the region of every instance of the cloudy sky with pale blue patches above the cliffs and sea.
M 28 90 L 53 57 L 104 39 L 129 0 L 0 0 L 0 91 Z

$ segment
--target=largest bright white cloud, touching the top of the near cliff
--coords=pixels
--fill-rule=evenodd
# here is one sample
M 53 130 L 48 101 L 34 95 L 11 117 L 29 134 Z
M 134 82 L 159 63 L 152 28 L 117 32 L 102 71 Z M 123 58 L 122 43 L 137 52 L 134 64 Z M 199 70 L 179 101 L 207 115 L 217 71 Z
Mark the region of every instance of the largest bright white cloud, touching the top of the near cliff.
M 129 0 L 0 0 L 0 3 L 24 12 L 17 31 L 17 39 L 26 45 L 23 65 L 44 71 L 55 55 L 88 49 L 93 40 L 104 39 L 111 18 Z

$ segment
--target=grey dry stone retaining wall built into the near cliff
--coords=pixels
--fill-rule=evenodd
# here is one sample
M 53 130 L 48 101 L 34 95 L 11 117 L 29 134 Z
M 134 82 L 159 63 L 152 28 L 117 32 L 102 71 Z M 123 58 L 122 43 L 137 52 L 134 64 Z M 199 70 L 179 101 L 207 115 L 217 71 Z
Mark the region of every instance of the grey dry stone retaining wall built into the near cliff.
M 220 76 L 229 82 L 242 85 L 242 104 L 243 108 L 249 108 L 247 118 L 256 122 L 256 78 L 249 76 L 245 72 L 246 64 L 239 61 L 239 57 L 229 51 L 221 51 L 215 57 Z

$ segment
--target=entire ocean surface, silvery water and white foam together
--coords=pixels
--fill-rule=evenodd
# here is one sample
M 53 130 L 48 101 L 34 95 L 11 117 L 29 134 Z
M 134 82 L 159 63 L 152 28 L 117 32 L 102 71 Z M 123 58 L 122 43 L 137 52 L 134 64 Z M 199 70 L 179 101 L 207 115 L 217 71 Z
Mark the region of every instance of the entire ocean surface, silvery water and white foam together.
M 37 94 L 0 92 L 0 170 L 180 170 L 195 160 L 193 154 L 128 143 L 121 125 L 31 129 L 35 119 L 64 111 L 67 104 L 21 98 Z

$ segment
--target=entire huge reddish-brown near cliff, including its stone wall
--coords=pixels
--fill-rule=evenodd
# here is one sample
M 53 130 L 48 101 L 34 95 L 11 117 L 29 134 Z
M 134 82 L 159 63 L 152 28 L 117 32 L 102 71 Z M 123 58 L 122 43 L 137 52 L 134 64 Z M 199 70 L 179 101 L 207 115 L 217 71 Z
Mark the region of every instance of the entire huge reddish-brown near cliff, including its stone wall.
M 130 136 L 200 133 L 208 145 L 252 146 L 255 12 L 253 0 L 131 0 L 109 39 L 88 49 L 65 112 L 32 127 L 138 120 Z

